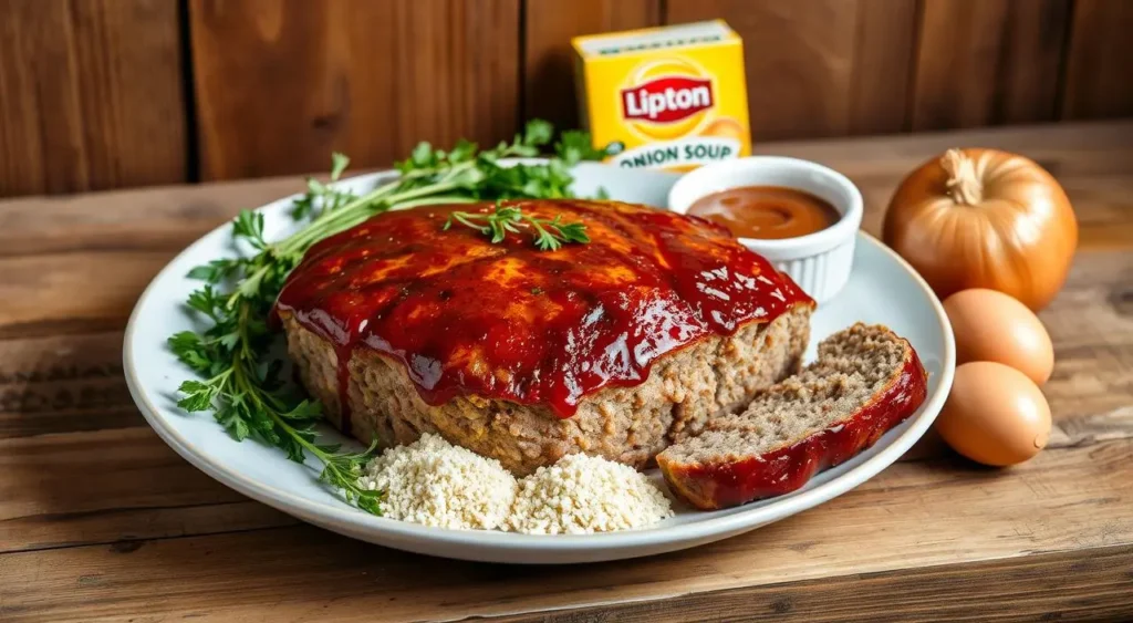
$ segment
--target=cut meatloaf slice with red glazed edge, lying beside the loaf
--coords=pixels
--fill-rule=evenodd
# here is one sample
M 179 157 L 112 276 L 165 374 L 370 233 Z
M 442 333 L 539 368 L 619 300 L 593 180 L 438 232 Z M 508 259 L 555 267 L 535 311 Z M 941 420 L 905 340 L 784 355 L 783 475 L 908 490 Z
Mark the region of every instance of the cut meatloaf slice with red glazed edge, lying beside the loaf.
M 857 324 L 824 340 L 818 360 L 742 413 L 657 456 L 670 487 L 699 509 L 736 506 L 803 486 L 872 445 L 925 401 L 927 375 L 909 342 Z

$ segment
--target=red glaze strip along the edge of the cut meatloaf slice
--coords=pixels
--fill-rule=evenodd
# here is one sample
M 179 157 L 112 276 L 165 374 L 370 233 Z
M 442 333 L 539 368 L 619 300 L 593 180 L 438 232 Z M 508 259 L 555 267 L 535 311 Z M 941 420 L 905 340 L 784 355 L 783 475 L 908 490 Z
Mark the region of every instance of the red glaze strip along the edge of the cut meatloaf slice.
M 849 418 L 758 458 L 681 470 L 674 490 L 685 490 L 704 510 L 739 506 L 801 488 L 819 471 L 841 464 L 874 445 L 925 402 L 928 374 L 917 352 L 905 361 L 896 383 Z

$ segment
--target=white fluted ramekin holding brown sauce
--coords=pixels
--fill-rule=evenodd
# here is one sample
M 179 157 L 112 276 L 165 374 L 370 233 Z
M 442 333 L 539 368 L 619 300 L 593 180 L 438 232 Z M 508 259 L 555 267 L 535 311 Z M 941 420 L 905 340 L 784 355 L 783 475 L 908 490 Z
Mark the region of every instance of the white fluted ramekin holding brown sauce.
M 783 240 L 740 238 L 749 249 L 791 275 L 819 304 L 834 298 L 850 279 L 853 246 L 861 227 L 861 191 L 837 171 L 795 157 L 751 156 L 701 167 L 676 180 L 668 208 L 684 214 L 697 199 L 744 186 L 785 186 L 826 199 L 842 215 L 837 223 Z

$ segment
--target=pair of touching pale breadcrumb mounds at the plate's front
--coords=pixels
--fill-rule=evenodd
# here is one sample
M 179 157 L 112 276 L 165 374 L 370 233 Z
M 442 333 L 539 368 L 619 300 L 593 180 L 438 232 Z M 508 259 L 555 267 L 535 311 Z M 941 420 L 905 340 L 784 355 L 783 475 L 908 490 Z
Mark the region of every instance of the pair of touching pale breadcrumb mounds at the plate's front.
M 384 492 L 385 517 L 442 528 L 585 535 L 673 514 L 645 475 L 621 463 L 571 454 L 517 481 L 499 461 L 432 434 L 385 451 L 359 483 Z

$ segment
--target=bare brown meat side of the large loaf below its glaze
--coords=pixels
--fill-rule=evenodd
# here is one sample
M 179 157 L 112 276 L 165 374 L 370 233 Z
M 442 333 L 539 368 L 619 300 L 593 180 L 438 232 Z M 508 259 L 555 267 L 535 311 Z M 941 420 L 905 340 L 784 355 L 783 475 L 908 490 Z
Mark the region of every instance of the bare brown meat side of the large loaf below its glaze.
M 734 335 L 709 338 L 659 360 L 645 383 L 588 396 L 571 418 L 543 406 L 459 396 L 438 407 L 421 400 L 404 366 L 358 349 L 349 364 L 351 434 L 384 445 L 438 433 L 526 476 L 574 452 L 644 468 L 709 417 L 732 412 L 760 390 L 795 373 L 810 338 L 809 305 Z M 288 352 L 304 386 L 341 427 L 338 358 L 330 342 L 283 316 Z

